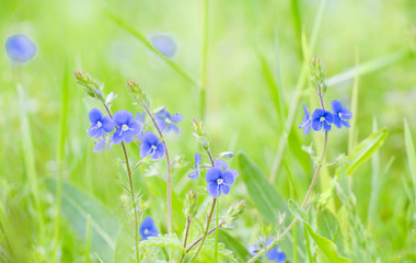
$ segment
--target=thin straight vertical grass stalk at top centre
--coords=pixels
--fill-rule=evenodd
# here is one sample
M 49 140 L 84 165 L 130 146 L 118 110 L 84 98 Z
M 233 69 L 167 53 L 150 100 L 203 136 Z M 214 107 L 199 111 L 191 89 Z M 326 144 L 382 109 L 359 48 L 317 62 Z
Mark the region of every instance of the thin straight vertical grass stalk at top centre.
M 209 28 L 209 0 L 204 1 L 204 23 L 203 23 L 203 49 L 199 85 L 200 117 L 205 121 L 207 105 L 207 58 L 208 58 L 208 28 Z

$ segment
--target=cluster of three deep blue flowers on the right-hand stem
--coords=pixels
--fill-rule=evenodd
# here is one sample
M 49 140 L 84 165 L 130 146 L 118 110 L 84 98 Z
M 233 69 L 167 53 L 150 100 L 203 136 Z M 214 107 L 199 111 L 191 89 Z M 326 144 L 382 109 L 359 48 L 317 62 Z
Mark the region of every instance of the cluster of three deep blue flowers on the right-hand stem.
M 313 111 L 312 116 L 310 115 L 307 105 L 303 105 L 304 117 L 302 124 L 299 125 L 299 128 L 304 128 L 304 135 L 309 134 L 311 127 L 313 130 L 331 130 L 332 124 L 334 124 L 337 128 L 342 128 L 343 125 L 345 127 L 349 127 L 347 119 L 353 117 L 351 112 L 344 107 L 338 101 L 334 100 L 331 104 L 332 112 L 316 108 Z

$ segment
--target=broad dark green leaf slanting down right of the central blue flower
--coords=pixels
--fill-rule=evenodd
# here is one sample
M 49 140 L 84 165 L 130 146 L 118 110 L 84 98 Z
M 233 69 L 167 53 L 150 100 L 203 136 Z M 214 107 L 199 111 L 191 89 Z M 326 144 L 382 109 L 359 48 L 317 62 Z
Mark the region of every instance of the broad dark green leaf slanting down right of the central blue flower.
M 238 155 L 240 172 L 250 197 L 256 204 L 258 211 L 268 222 L 278 222 L 278 210 L 287 210 L 284 198 L 267 181 L 263 172 L 250 161 L 244 153 Z

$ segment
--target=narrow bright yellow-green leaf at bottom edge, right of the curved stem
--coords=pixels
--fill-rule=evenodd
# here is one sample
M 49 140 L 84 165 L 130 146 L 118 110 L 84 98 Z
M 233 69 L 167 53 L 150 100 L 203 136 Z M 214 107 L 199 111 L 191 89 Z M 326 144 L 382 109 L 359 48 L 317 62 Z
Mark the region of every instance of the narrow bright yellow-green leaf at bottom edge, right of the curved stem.
M 296 204 L 293 201 L 289 201 L 289 209 L 299 220 L 303 222 L 304 228 L 308 230 L 309 235 L 315 242 L 317 247 L 317 254 L 321 259 L 320 262 L 327 263 L 349 263 L 350 261 L 346 258 L 338 255 L 337 247 L 331 240 L 317 235 L 309 224 L 305 217 L 304 210 Z

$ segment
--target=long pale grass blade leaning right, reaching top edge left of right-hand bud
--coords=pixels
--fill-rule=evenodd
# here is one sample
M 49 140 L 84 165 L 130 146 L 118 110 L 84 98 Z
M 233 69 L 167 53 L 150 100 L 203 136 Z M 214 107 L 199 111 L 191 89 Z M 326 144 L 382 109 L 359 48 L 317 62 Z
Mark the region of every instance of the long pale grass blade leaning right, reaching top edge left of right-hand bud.
M 277 149 L 277 152 L 275 156 L 275 160 L 274 160 L 274 163 L 271 167 L 271 172 L 270 172 L 270 181 L 271 182 L 275 182 L 275 180 L 276 180 L 277 170 L 280 167 L 282 153 L 286 149 L 287 141 L 288 141 L 288 136 L 289 136 L 291 126 L 293 124 L 294 115 L 296 115 L 297 110 L 299 107 L 299 102 L 300 102 L 301 96 L 302 96 L 302 91 L 303 91 L 305 83 L 307 83 L 308 61 L 309 61 L 309 57 L 307 54 L 310 54 L 309 50 L 311 50 L 311 52 L 314 50 L 314 47 L 316 44 L 316 37 L 317 37 L 319 31 L 321 28 L 321 22 L 322 22 L 322 18 L 324 14 L 325 5 L 326 5 L 326 0 L 321 0 L 320 8 L 319 8 L 319 11 L 317 11 L 314 24 L 313 24 L 311 42 L 310 42 L 309 46 L 307 45 L 307 37 L 305 37 L 305 34 L 303 33 L 303 37 L 302 37 L 302 49 L 303 49 L 302 69 L 301 69 L 301 72 L 299 75 L 299 78 L 298 78 L 294 95 L 290 102 L 290 108 L 289 108 L 288 117 L 286 121 L 286 130 L 282 134 L 282 136 L 280 137 L 279 146 L 278 146 L 278 149 Z

